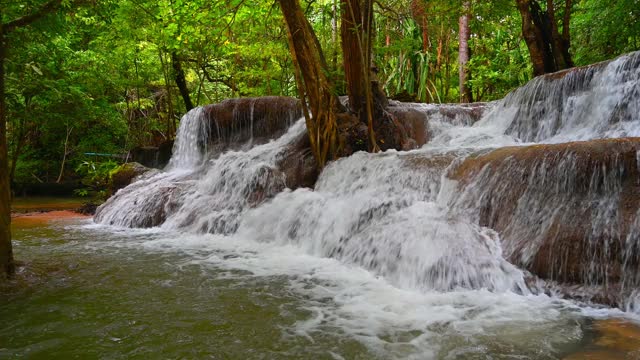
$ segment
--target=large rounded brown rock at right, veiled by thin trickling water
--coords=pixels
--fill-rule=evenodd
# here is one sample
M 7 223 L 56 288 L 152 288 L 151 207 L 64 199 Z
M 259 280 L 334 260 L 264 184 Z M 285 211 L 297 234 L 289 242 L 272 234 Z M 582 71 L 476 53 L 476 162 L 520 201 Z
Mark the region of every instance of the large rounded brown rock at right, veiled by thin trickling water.
M 498 231 L 512 263 L 624 307 L 640 284 L 639 150 L 623 138 L 477 153 L 449 174 L 452 205 Z

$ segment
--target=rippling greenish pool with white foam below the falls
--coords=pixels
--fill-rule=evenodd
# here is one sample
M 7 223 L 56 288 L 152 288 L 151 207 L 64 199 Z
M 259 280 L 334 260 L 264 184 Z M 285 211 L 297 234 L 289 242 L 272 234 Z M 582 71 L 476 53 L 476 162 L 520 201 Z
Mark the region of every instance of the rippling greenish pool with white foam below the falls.
M 577 359 L 639 348 L 633 319 L 602 325 L 615 311 L 400 290 L 251 239 L 90 220 L 18 226 L 14 236 L 28 266 L 0 295 L 0 358 Z

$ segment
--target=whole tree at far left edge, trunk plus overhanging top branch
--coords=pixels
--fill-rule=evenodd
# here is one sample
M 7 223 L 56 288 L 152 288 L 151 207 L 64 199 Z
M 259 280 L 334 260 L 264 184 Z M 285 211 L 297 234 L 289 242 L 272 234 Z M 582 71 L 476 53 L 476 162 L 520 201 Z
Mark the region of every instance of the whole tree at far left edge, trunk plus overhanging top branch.
M 11 275 L 14 272 L 4 78 L 4 66 L 9 48 L 8 36 L 15 30 L 29 26 L 47 14 L 55 12 L 61 3 L 62 0 L 51 0 L 32 13 L 8 22 L 4 22 L 4 14 L 0 9 L 0 276 Z

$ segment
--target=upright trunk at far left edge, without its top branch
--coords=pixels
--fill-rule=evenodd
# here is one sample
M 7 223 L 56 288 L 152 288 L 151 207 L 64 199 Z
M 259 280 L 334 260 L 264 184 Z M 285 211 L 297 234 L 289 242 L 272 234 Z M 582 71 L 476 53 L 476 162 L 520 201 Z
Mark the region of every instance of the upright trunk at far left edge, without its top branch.
M 1 10 L 0 10 L 1 11 Z M 1 18 L 1 17 L 0 17 Z M 11 248 L 11 190 L 7 149 L 6 104 L 4 96 L 4 60 L 6 37 L 0 23 L 0 277 L 13 274 Z

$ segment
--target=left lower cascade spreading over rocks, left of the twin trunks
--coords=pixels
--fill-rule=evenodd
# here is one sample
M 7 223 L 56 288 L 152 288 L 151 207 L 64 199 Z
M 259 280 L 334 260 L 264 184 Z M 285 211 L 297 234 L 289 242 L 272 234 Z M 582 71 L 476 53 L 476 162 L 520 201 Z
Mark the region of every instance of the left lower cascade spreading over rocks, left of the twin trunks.
M 198 131 L 195 126 L 191 129 Z M 300 120 L 275 141 L 247 151 L 210 154 L 197 168 L 191 165 L 198 156 L 187 157 L 189 166 L 170 164 L 167 171 L 119 190 L 98 209 L 94 220 L 126 227 L 233 232 L 240 214 L 284 189 L 284 174 L 275 167 L 276 161 L 303 134 Z

